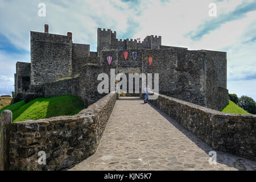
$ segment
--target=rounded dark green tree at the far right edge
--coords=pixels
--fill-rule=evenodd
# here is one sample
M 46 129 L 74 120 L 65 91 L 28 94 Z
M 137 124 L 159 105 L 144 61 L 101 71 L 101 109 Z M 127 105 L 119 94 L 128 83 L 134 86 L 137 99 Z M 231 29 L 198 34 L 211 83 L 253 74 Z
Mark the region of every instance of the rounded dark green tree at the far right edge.
M 238 106 L 242 107 L 248 113 L 256 114 L 256 102 L 251 97 L 242 96 L 239 99 Z

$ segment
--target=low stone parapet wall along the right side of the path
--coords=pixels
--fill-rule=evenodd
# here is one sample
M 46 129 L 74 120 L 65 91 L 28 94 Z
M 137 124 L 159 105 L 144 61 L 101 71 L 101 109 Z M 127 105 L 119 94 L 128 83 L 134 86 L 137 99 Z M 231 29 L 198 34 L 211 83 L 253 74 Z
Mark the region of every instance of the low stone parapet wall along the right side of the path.
M 214 149 L 256 160 L 256 115 L 226 114 L 162 94 L 150 102 Z

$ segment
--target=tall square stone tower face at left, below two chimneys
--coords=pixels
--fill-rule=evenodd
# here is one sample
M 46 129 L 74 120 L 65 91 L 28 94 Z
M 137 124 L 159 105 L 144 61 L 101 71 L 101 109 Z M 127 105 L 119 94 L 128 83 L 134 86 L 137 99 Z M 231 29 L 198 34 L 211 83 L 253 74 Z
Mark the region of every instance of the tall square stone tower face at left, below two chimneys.
M 31 85 L 72 75 L 72 37 L 41 32 L 31 36 Z

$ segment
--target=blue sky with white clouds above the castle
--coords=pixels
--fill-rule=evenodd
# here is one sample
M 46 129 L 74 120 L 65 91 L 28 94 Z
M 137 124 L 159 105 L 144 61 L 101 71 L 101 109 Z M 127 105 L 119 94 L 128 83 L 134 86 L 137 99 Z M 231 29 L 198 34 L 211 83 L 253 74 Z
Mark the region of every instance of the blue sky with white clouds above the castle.
M 38 16 L 45 3 L 46 16 Z M 217 16 L 209 16 L 215 3 Z M 256 101 L 256 1 L 242 0 L 0 0 L 0 95 L 14 90 L 16 61 L 30 62 L 30 31 L 73 33 L 96 51 L 97 28 L 117 38 L 161 35 L 162 44 L 228 53 L 228 89 Z

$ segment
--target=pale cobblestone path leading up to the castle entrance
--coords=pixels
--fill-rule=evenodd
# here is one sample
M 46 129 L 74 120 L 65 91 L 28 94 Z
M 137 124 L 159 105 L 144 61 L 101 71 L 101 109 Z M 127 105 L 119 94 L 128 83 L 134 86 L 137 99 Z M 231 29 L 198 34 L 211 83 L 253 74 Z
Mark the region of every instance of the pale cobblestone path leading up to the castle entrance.
M 256 162 L 217 152 L 138 97 L 121 97 L 96 153 L 70 170 L 256 170 Z

